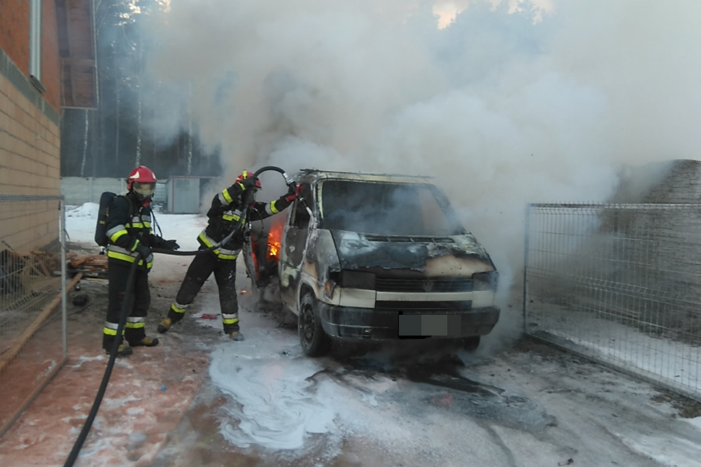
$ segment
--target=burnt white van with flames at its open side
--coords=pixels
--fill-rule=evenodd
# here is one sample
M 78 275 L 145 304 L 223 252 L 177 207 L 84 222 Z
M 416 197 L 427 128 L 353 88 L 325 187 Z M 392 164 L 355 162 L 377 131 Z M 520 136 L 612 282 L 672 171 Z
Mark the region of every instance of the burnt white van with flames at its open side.
M 251 236 L 245 263 L 257 287 L 275 280 L 308 356 L 333 339 L 476 348 L 491 332 L 498 273 L 430 179 L 302 170 L 294 180 L 301 196 Z

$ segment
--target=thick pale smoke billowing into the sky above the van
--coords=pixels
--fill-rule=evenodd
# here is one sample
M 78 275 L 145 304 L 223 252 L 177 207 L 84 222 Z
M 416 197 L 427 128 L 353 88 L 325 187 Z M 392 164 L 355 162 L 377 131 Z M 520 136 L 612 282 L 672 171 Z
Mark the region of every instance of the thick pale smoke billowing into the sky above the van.
M 191 123 L 230 179 L 435 177 L 508 284 L 527 203 L 603 202 L 626 166 L 698 158 L 697 18 L 695 0 L 172 0 L 144 23 L 173 96 L 154 130 Z

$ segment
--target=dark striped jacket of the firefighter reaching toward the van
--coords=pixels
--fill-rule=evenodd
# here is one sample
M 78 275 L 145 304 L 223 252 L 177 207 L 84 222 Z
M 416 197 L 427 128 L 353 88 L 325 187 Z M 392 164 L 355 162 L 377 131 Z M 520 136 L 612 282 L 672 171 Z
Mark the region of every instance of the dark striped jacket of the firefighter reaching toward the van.
M 207 211 L 209 221 L 197 238 L 200 245 L 205 248 L 217 245 L 242 223 L 243 193 L 243 185 L 235 183 L 212 198 L 212 205 Z M 266 219 L 266 217 L 282 212 L 292 203 L 292 201 L 287 201 L 286 197 L 286 195 L 280 196 L 270 203 L 252 203 L 248 207 L 248 219 Z M 231 240 L 217 250 L 213 250 L 213 253 L 219 259 L 236 259 L 243 246 L 244 228 L 245 225 L 242 225 L 236 235 L 231 237 Z

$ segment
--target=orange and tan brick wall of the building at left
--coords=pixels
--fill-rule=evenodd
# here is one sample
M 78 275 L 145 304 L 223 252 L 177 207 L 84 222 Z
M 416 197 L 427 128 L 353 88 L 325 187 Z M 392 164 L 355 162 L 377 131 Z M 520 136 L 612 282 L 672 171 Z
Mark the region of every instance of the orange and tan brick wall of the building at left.
M 0 194 L 60 195 L 57 20 L 55 1 L 42 4 L 44 93 L 29 81 L 29 0 L 0 0 Z M 16 250 L 53 243 L 57 207 L 57 201 L 2 201 L 0 240 Z

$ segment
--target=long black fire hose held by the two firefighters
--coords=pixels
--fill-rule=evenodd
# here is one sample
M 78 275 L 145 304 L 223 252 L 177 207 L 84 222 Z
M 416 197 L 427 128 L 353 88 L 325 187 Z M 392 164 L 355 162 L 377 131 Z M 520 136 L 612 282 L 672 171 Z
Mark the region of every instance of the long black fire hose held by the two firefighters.
M 260 168 L 254 172 L 254 176 L 258 177 L 263 172 L 268 172 L 268 171 L 275 171 L 275 172 L 280 172 L 280 174 L 283 175 L 285 178 L 285 184 L 288 187 L 294 186 L 294 180 L 290 178 L 289 175 L 287 175 L 287 172 L 285 170 L 276 167 L 275 165 L 266 165 L 263 168 Z M 252 204 L 252 196 L 253 194 L 248 194 L 247 192 L 244 191 L 244 203 L 243 205 L 245 207 L 250 206 Z M 305 203 L 306 205 L 306 203 Z M 190 250 L 190 251 L 175 251 L 175 250 L 166 250 L 164 248 L 152 248 L 151 251 L 154 253 L 161 253 L 163 255 L 178 255 L 178 256 L 194 256 L 194 255 L 202 255 L 207 252 L 211 252 L 214 250 L 217 250 L 218 248 L 221 248 L 222 245 L 226 245 L 231 238 L 235 234 L 238 233 L 243 227 L 245 226 L 246 222 L 248 219 L 248 209 L 245 208 L 243 210 L 243 215 L 240 217 L 240 220 L 238 224 L 236 224 L 236 227 L 231 230 L 231 233 L 224 237 L 222 241 L 219 241 L 216 245 L 212 245 L 209 248 L 203 248 L 201 250 Z M 160 228 L 159 228 L 160 229 Z M 124 301 L 122 302 L 122 309 L 119 313 L 119 323 L 117 325 L 117 330 L 116 330 L 116 335 L 121 336 L 124 326 L 126 323 L 126 318 L 128 314 L 128 310 L 132 308 L 133 301 L 134 301 L 134 281 L 135 281 L 135 275 L 136 275 L 136 270 L 137 270 L 137 265 L 139 262 L 142 260 L 142 255 L 137 252 L 136 257 L 134 258 L 134 262 L 132 263 L 130 269 L 129 269 L 129 276 L 127 278 L 127 286 L 126 290 L 124 291 Z M 120 345 L 120 339 L 114 339 L 114 344 L 112 344 L 112 348 L 109 351 L 109 360 L 107 361 L 107 367 L 104 370 L 104 375 L 102 376 L 102 382 L 100 383 L 100 388 L 97 390 L 97 395 L 95 396 L 95 401 L 93 402 L 93 407 L 90 408 L 90 413 L 88 414 L 88 418 L 86 419 L 85 423 L 83 424 L 83 428 L 81 429 L 81 433 L 78 435 L 78 438 L 76 439 L 76 442 L 73 445 L 73 449 L 71 450 L 68 459 L 64 463 L 64 467 L 72 467 L 73 464 L 75 463 L 76 459 L 78 458 L 78 454 L 81 451 L 81 448 L 83 447 L 83 442 L 85 442 L 86 438 L 88 438 L 88 433 L 90 432 L 90 428 L 93 426 L 93 421 L 95 420 L 95 417 L 97 416 L 97 410 L 100 409 L 100 404 L 102 403 L 102 398 L 104 397 L 105 391 L 107 391 L 107 384 L 109 383 L 109 378 L 111 377 L 112 374 L 112 369 L 114 367 L 114 361 L 116 360 L 117 357 L 117 352 L 118 348 Z

